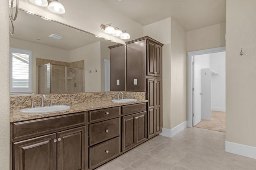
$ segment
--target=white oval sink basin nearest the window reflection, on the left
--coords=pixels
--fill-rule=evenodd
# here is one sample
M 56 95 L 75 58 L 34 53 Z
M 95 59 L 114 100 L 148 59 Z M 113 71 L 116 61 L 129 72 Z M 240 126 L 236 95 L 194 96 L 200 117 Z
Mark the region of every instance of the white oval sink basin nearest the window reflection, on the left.
M 56 105 L 56 106 L 26 108 L 26 109 L 21 109 L 20 112 L 21 113 L 30 113 L 30 114 L 39 114 L 39 113 L 50 113 L 50 112 L 66 111 L 68 109 L 70 109 L 70 106 Z

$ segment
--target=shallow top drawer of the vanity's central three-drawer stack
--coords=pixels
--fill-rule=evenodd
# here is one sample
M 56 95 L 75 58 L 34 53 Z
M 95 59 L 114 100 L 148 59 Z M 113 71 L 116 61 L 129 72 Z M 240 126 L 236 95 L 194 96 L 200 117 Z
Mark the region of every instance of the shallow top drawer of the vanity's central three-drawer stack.
M 110 119 L 120 115 L 120 107 L 112 107 L 107 109 L 100 109 L 95 111 L 89 111 L 89 121 L 102 121 L 105 119 Z

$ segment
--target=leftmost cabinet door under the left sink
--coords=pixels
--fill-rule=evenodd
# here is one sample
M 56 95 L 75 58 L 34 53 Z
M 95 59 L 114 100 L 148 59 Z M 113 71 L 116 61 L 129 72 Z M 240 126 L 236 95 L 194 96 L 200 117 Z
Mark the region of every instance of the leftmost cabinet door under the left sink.
M 13 143 L 14 170 L 56 170 L 56 134 Z

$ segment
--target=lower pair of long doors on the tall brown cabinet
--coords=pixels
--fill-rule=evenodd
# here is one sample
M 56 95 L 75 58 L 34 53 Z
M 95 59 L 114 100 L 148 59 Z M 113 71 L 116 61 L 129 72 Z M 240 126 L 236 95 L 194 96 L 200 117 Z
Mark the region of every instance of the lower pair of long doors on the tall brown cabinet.
M 147 79 L 148 138 L 162 132 L 162 83 L 160 79 Z

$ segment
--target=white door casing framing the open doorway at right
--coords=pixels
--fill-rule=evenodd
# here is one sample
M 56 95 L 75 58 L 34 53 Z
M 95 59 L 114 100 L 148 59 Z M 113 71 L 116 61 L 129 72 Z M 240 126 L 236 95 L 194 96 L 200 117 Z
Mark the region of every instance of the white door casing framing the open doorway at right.
M 193 127 L 193 56 L 194 55 L 202 55 L 202 54 L 210 54 L 210 53 L 218 53 L 226 51 L 226 47 L 217 47 L 210 49 L 203 49 L 199 51 L 191 51 L 188 52 L 188 121 L 187 126 Z

